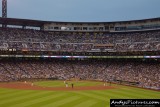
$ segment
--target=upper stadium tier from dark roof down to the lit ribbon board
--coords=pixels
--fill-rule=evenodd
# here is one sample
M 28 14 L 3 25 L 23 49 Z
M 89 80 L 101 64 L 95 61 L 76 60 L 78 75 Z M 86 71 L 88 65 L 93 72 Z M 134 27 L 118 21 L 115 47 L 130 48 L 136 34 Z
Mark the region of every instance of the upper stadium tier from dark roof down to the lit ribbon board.
M 1 57 L 27 57 L 25 55 L 37 52 L 37 57 L 160 58 L 160 18 L 119 22 L 53 22 L 1 17 L 0 26 L 4 38 L 1 39 Z M 6 41 L 6 32 L 7 36 L 15 36 L 15 40 L 8 37 Z M 21 39 L 16 35 L 19 32 L 25 34 L 19 34 Z

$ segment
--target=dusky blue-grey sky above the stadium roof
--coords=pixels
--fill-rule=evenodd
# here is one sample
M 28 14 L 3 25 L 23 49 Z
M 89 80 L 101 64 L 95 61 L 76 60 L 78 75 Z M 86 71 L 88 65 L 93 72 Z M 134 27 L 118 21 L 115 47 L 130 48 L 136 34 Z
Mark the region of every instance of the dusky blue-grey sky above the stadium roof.
M 160 17 L 160 0 L 8 0 L 7 2 L 9 18 L 112 22 Z

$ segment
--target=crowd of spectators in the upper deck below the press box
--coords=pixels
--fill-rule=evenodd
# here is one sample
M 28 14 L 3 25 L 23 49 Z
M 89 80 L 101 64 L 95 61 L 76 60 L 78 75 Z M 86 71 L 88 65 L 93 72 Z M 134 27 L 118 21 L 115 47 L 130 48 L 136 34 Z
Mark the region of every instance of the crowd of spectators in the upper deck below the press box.
M 0 28 L 0 48 L 28 51 L 160 50 L 160 31 L 125 33 L 45 32 Z M 97 45 L 99 47 L 97 47 Z

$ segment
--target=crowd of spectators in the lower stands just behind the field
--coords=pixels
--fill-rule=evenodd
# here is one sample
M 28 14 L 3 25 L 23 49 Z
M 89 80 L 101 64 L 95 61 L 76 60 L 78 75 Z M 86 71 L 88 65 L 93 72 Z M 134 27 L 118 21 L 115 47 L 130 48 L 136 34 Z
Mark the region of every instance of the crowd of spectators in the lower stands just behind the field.
M 57 78 L 128 81 L 139 87 L 160 89 L 160 63 L 135 61 L 5 61 L 0 62 L 0 81 Z

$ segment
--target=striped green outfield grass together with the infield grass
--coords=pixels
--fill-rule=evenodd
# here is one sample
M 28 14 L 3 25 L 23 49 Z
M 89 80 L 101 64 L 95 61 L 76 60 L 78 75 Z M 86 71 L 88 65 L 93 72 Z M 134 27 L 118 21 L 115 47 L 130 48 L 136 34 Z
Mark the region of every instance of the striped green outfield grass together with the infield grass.
M 46 87 L 64 86 L 62 81 L 42 81 Z M 76 82 L 77 86 L 101 85 L 101 82 Z M 111 98 L 159 99 L 160 92 L 115 85 L 117 89 L 100 91 L 35 91 L 0 88 L 0 107 L 109 107 Z

